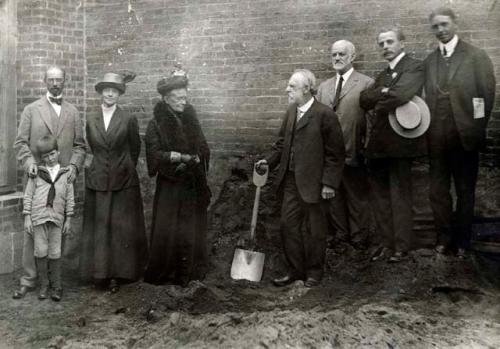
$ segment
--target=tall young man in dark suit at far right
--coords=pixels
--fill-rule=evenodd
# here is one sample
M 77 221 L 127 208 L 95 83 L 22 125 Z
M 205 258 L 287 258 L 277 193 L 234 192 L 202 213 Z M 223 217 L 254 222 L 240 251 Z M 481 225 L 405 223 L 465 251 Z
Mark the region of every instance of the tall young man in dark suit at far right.
M 493 65 L 486 53 L 458 38 L 455 14 L 440 8 L 429 16 L 439 47 L 424 61 L 430 200 L 438 230 L 436 251 L 465 257 L 470 244 L 479 150 L 495 98 Z M 451 178 L 457 196 L 455 224 Z

